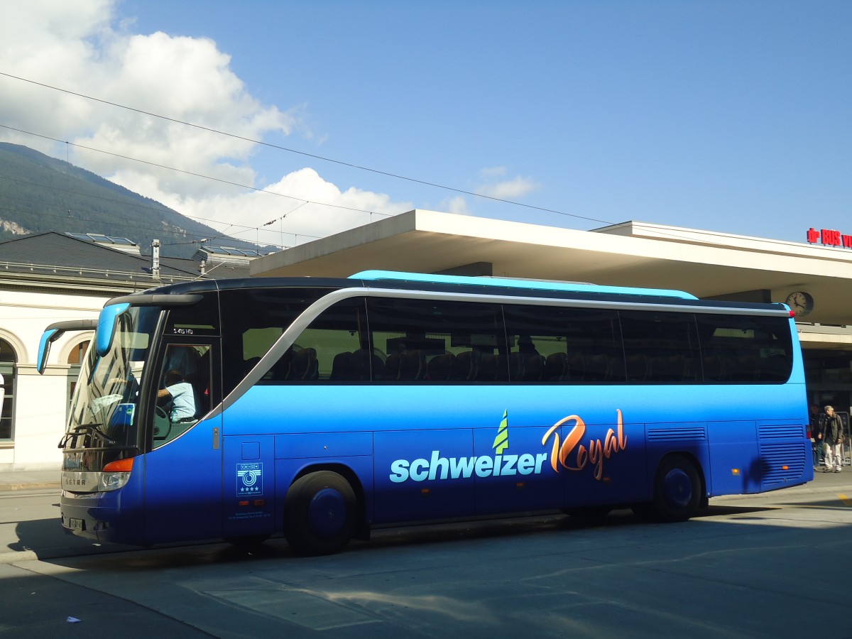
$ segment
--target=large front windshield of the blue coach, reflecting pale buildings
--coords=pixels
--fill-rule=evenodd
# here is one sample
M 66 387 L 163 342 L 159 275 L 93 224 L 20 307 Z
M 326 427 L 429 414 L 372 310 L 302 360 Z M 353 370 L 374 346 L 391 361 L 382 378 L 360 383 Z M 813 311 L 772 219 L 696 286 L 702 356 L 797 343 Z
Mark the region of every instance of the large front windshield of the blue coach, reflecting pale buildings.
M 89 348 L 60 442 L 66 452 L 63 469 L 98 471 L 138 452 L 136 405 L 158 313 L 158 308 L 128 308 L 115 318 L 107 353 L 98 354 L 94 344 Z

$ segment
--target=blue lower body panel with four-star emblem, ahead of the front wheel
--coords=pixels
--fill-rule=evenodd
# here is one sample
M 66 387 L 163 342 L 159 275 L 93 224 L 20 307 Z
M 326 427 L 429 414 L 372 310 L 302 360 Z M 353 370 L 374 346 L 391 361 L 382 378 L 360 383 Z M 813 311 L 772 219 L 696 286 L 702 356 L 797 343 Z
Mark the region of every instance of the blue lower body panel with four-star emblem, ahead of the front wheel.
M 275 507 L 273 435 L 227 436 L 222 447 L 222 537 L 272 534 Z

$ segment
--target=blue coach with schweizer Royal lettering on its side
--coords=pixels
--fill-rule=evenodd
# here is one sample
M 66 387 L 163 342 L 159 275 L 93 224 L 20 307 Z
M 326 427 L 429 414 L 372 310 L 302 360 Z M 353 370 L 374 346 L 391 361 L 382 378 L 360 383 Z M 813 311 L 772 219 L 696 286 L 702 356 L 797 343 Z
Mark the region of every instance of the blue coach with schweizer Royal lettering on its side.
M 49 345 L 95 320 L 60 322 Z M 102 542 L 632 508 L 813 479 L 782 304 L 368 271 L 107 302 L 60 447 L 62 525 Z

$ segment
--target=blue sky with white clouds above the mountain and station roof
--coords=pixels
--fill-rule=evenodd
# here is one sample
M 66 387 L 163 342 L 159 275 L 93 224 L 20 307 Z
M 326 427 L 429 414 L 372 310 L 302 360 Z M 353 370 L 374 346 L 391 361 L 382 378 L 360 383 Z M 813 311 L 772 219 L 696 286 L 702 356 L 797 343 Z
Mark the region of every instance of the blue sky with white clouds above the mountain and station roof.
M 62 125 L 20 109 L 0 116 L 40 135 L 301 198 L 191 182 L 75 149 L 76 164 L 218 228 L 243 229 L 245 239 L 274 219 L 277 239 L 256 237 L 292 245 L 415 207 L 797 242 L 811 226 L 852 233 L 849 2 L 86 1 L 88 32 L 75 19 L 76 36 L 63 37 L 78 37 L 88 54 L 62 72 L 37 66 L 23 44 L 0 44 L 0 72 L 558 211 L 193 139 L 197 132 L 135 123 L 127 113 L 107 130 L 113 116 L 103 107 L 80 107 Z M 37 11 L 32 29 L 56 20 L 48 0 L 34 4 L 16 9 Z M 87 65 L 97 72 L 87 75 Z M 184 79 L 169 85 L 184 66 Z M 239 87 L 222 93 L 222 78 Z M 0 78 L 0 95 L 20 84 Z M 129 127 L 134 135 L 123 133 Z M 0 138 L 38 147 L 21 134 L 0 130 Z M 200 147 L 204 157 L 193 164 Z M 299 206 L 304 200 L 348 208 Z

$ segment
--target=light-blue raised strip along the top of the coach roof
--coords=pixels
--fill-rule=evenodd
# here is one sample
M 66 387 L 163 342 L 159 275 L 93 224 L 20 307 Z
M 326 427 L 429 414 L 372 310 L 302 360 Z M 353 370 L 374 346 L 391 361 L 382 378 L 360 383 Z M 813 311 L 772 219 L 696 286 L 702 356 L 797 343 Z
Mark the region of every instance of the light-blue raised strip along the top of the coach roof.
M 610 293 L 614 295 L 647 295 L 657 297 L 676 297 L 682 300 L 697 300 L 698 297 L 684 291 L 666 289 L 642 289 L 627 286 L 602 286 L 581 282 L 556 282 L 542 279 L 515 279 L 496 277 L 468 277 L 461 275 L 435 275 L 428 273 L 401 273 L 399 271 L 361 271 L 350 275 L 349 279 L 394 280 L 404 282 L 425 282 L 429 284 L 458 284 L 477 286 L 502 286 L 534 291 L 566 291 L 574 293 Z

